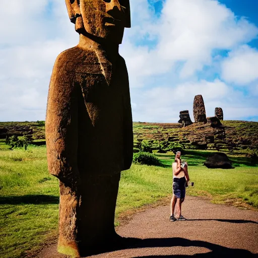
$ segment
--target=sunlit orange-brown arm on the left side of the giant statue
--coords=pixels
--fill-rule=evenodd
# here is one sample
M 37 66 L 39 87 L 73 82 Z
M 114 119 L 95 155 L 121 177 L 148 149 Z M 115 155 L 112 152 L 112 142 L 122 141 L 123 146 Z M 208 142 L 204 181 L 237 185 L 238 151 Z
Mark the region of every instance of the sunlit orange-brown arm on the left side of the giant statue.
M 50 174 L 67 185 L 79 181 L 77 167 L 78 106 L 72 75 L 60 54 L 51 76 L 46 111 L 47 161 Z

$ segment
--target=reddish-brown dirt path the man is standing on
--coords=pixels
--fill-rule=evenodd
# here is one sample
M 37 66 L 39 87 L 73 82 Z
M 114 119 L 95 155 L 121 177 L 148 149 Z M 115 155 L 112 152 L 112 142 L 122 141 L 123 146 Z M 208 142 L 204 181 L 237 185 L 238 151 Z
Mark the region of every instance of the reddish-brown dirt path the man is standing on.
M 123 237 L 138 238 L 134 244 L 89 257 L 258 257 L 258 212 L 196 197 L 187 197 L 182 211 L 187 221 L 170 222 L 169 206 L 138 213 L 116 229 Z M 37 257 L 66 256 L 52 245 Z

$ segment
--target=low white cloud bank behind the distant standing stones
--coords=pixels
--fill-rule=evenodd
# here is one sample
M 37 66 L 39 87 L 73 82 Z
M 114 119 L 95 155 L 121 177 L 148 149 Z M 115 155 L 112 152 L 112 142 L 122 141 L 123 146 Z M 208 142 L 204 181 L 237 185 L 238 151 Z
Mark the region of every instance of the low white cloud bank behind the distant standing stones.
M 198 94 L 203 95 L 207 116 L 214 116 L 215 107 L 225 107 L 225 102 L 234 103 L 232 91 L 231 87 L 218 79 L 213 82 L 202 80 L 182 83 L 175 88 L 156 87 L 135 97 L 139 103 L 133 106 L 135 120 L 173 122 L 179 119 L 181 110 L 189 110 L 193 120 L 193 99 Z M 228 116 L 227 110 L 225 113 Z

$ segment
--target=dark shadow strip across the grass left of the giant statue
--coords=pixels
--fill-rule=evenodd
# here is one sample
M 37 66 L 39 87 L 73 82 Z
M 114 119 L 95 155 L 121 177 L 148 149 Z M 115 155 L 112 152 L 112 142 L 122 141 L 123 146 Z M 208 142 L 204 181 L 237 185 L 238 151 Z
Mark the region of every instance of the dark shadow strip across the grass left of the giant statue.
M 47 195 L 25 195 L 0 197 L 0 204 L 59 204 L 59 197 Z

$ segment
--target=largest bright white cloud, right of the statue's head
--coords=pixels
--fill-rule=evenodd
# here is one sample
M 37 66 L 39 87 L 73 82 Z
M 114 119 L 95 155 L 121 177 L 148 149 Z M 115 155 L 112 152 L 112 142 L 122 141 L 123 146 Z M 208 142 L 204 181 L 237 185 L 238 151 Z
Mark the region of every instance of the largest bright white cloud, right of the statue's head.
M 141 23 L 131 30 L 137 32 L 137 37 L 157 39 L 158 45 L 154 49 L 138 47 L 133 43 L 136 38 L 126 34 L 131 36 L 126 38 L 131 44 L 123 45 L 121 53 L 129 64 L 128 71 L 134 74 L 133 87 L 142 86 L 142 77 L 174 70 L 178 61 L 183 62 L 179 75 L 187 79 L 212 65 L 214 49 L 233 49 L 258 34 L 257 27 L 244 18 L 236 20 L 231 10 L 218 1 L 167 0 L 159 21 L 151 18 L 152 10 L 143 17 L 142 8 L 135 12 Z

